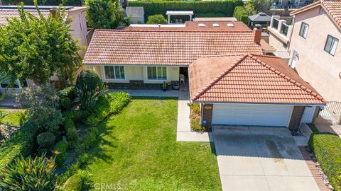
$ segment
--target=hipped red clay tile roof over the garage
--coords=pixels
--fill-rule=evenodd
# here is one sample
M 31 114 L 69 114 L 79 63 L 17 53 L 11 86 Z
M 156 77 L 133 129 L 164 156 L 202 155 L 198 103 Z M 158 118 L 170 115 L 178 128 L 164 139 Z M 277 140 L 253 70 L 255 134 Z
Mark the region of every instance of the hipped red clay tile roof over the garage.
M 190 98 L 197 103 L 327 103 L 279 57 L 201 57 L 190 64 L 189 71 Z

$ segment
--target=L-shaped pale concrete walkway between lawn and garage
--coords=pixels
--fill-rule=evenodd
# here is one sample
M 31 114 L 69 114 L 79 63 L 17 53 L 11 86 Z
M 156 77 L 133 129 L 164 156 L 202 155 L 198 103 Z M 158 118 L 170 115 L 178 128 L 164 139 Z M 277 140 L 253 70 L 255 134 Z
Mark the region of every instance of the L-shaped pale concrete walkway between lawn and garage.
M 213 141 L 212 134 L 208 132 L 191 132 L 190 107 L 188 91 L 179 91 L 178 95 L 178 125 L 176 128 L 176 141 Z

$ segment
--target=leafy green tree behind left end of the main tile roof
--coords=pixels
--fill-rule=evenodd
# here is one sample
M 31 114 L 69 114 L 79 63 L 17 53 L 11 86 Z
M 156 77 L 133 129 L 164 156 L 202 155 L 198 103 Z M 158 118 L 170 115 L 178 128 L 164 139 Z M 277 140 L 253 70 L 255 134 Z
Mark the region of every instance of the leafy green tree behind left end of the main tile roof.
M 114 29 L 125 22 L 123 11 L 117 1 L 114 0 L 87 0 L 87 22 L 93 28 Z

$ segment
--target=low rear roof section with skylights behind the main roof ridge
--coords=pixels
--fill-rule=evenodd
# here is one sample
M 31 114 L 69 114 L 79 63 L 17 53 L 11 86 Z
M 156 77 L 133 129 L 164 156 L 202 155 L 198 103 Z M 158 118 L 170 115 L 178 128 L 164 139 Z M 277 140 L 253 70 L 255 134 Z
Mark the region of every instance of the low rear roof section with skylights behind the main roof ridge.
M 200 27 L 198 24 L 204 24 L 205 27 Z M 219 26 L 213 26 L 213 24 L 218 24 Z M 233 26 L 228 26 L 227 24 L 232 24 Z M 171 25 L 167 25 L 167 27 L 144 27 L 143 25 L 137 26 L 128 26 L 122 28 L 123 30 L 208 30 L 208 31 L 227 31 L 227 30 L 247 30 L 250 31 L 251 29 L 245 25 L 243 22 L 240 21 L 205 21 L 205 22 L 193 22 L 193 21 L 186 21 L 184 27 L 169 27 Z

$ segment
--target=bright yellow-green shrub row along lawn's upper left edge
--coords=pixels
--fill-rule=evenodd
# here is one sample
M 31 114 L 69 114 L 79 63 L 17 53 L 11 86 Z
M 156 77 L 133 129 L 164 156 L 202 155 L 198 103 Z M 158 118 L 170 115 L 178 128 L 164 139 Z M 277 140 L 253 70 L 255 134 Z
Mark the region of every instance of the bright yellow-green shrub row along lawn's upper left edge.
M 99 122 L 102 122 L 105 117 L 110 114 L 120 112 L 124 106 L 126 106 L 131 97 L 128 93 L 125 92 L 112 92 L 108 93 L 105 96 L 99 98 L 96 104 L 96 108 L 85 121 L 87 125 L 97 125 Z

